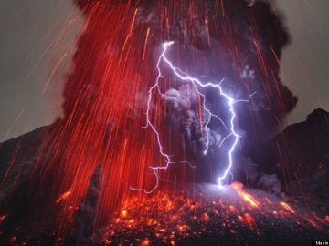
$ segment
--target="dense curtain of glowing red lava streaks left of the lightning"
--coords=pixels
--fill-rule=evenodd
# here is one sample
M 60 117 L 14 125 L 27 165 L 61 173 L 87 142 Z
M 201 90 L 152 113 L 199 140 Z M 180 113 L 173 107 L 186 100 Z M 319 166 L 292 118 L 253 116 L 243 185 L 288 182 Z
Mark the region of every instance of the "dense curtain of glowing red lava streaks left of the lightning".
M 64 210 L 77 208 L 100 165 L 96 223 L 105 223 L 129 195 L 131 183 L 147 187 L 154 182 L 145 163 L 160 161 L 152 134 L 141 128 L 145 106 L 136 99 L 147 88 L 145 81 L 155 77 L 149 68 L 152 31 L 135 24 L 137 8 L 130 3 L 94 2 L 85 11 L 64 88 L 65 118 L 40 151 L 49 153 L 39 160 L 45 168 L 34 170 L 41 177 L 36 200 L 65 200 Z M 145 36 L 147 48 L 140 42 Z

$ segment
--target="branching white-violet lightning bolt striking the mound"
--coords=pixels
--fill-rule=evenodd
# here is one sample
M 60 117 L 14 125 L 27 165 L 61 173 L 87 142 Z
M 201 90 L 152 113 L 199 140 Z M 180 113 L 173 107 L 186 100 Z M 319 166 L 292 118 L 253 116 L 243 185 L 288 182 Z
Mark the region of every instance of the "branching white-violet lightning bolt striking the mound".
M 252 93 L 251 95 L 249 95 L 249 98 L 246 100 L 235 100 L 233 97 L 230 97 L 227 93 L 225 93 L 221 87 L 221 83 L 224 81 L 224 78 L 218 83 L 212 83 L 212 82 L 201 82 L 198 78 L 196 77 L 191 77 L 188 74 L 186 74 L 185 72 L 183 72 L 180 68 L 175 67 L 172 62 L 165 56 L 169 46 L 172 46 L 174 44 L 174 41 L 170 41 L 170 42 L 165 42 L 162 46 L 163 46 L 163 52 L 161 53 L 161 55 L 159 56 L 157 63 L 156 63 L 156 69 L 158 71 L 158 76 L 156 77 L 155 83 L 152 87 L 149 88 L 148 90 L 148 100 L 147 100 L 147 110 L 146 110 L 146 126 L 144 128 L 151 128 L 152 131 L 154 132 L 154 135 L 156 137 L 157 140 L 157 144 L 159 147 L 159 151 L 160 154 L 164 157 L 164 166 L 150 166 L 150 169 L 153 171 L 154 176 L 155 176 L 155 184 L 154 187 L 151 190 L 144 190 L 144 189 L 136 189 L 131 187 L 132 190 L 137 190 L 137 191 L 143 191 L 144 193 L 152 193 L 154 190 L 157 189 L 157 187 L 159 186 L 159 171 L 160 170 L 165 170 L 168 169 L 170 164 L 174 163 L 171 159 L 169 154 L 167 154 L 164 150 L 164 147 L 162 145 L 161 142 L 161 138 L 160 138 L 160 134 L 157 131 L 157 129 L 154 127 L 154 124 L 152 123 L 151 117 L 150 117 L 150 112 L 151 112 L 151 104 L 152 104 L 152 100 L 154 97 L 154 92 L 155 90 L 158 91 L 158 93 L 161 96 L 164 96 L 164 94 L 161 93 L 160 87 L 159 87 L 159 83 L 160 83 L 160 79 L 161 77 L 163 77 L 163 74 L 161 72 L 161 68 L 160 68 L 160 64 L 163 62 L 167 67 L 169 67 L 171 69 L 171 71 L 175 74 L 176 77 L 178 77 L 179 79 L 183 80 L 183 81 L 187 81 L 190 82 L 192 84 L 192 86 L 195 88 L 196 93 L 202 97 L 203 99 L 203 103 L 202 103 L 202 107 L 203 109 L 207 112 L 207 122 L 206 122 L 206 149 L 203 151 L 203 154 L 206 155 L 207 154 L 207 150 L 209 149 L 209 136 L 210 136 L 210 130 L 208 128 L 208 125 L 211 121 L 211 118 L 216 118 L 218 119 L 218 121 L 224 126 L 225 129 L 228 130 L 226 124 L 224 123 L 224 121 L 219 118 L 217 115 L 213 114 L 211 112 L 210 109 L 208 109 L 206 107 L 206 96 L 201 93 L 198 89 L 198 87 L 214 87 L 216 89 L 218 89 L 218 93 L 221 97 L 224 97 L 228 103 L 228 108 L 229 108 L 229 112 L 230 112 L 230 120 L 229 120 L 229 131 L 230 133 L 228 134 L 227 137 L 223 138 L 223 140 L 220 142 L 219 147 L 228 139 L 228 138 L 234 138 L 234 141 L 231 145 L 231 147 L 228 150 L 228 165 L 227 168 L 225 169 L 225 171 L 223 172 L 222 176 L 220 176 L 218 178 L 218 185 L 222 186 L 223 185 L 223 180 L 226 179 L 228 177 L 228 173 L 230 173 L 230 169 L 232 168 L 232 162 L 233 162 L 233 152 L 234 149 L 236 148 L 237 144 L 238 144 L 238 140 L 239 140 L 239 134 L 236 132 L 236 129 L 234 127 L 234 120 L 236 118 L 236 113 L 235 113 L 235 108 L 234 105 L 237 102 L 249 102 L 250 98 L 256 93 Z M 180 163 L 186 163 L 189 166 L 191 166 L 191 168 L 196 169 L 196 166 L 190 164 L 188 161 L 181 161 Z

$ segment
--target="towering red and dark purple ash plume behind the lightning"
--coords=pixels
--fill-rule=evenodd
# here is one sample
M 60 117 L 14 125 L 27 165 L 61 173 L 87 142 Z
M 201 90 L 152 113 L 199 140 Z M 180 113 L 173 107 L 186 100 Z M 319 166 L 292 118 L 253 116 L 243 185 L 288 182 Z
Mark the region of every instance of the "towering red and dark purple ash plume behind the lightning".
M 39 173 L 42 182 L 58 184 L 45 191 L 48 196 L 69 190 L 68 208 L 81 203 L 97 163 L 102 163 L 103 177 L 100 220 L 133 192 L 131 187 L 154 187 L 150 167 L 164 165 L 164 157 L 154 132 L 143 126 L 164 42 L 174 42 L 167 56 L 190 76 L 222 81 L 235 99 L 253 95 L 248 103 L 235 106 L 234 125 L 241 136 L 237 155 L 268 138 L 296 105 L 297 98 L 279 77 L 281 49 L 289 36 L 279 15 L 264 2 L 76 2 L 85 24 L 65 86 L 65 117 L 49 141 L 47 168 Z M 160 185 L 177 179 L 214 181 L 228 151 L 228 146 L 219 148 L 227 131 L 216 119 L 207 128 L 207 112 L 201 106 L 227 123 L 227 102 L 211 88 L 203 88 L 205 97 L 200 97 L 168 67 L 161 69 L 164 77 L 149 116 L 175 163 L 159 171 Z M 182 161 L 196 165 L 197 171 Z

